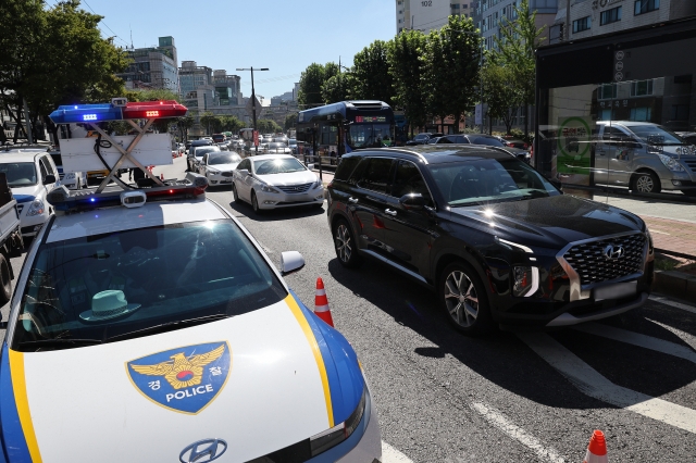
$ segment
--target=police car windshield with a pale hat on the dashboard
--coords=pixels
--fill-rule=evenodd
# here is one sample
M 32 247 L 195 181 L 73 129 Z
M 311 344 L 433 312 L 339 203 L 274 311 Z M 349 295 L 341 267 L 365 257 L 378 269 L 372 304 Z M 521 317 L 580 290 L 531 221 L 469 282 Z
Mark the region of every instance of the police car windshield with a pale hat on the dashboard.
M 55 350 L 181 329 L 283 300 L 275 274 L 231 221 L 197 222 L 40 246 L 12 348 Z M 133 336 L 129 336 L 133 335 Z M 74 342 L 71 342 L 74 340 Z

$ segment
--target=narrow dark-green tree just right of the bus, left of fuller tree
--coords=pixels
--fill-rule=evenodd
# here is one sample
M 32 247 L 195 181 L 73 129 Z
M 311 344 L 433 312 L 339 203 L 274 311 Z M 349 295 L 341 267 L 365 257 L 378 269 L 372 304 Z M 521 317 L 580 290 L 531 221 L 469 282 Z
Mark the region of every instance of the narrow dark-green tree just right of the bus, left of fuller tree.
M 426 93 L 423 85 L 426 62 L 421 59 L 426 49 L 426 37 L 420 30 L 406 30 L 388 42 L 387 59 L 394 80 L 394 101 L 403 108 L 413 127 L 425 127 L 427 120 Z

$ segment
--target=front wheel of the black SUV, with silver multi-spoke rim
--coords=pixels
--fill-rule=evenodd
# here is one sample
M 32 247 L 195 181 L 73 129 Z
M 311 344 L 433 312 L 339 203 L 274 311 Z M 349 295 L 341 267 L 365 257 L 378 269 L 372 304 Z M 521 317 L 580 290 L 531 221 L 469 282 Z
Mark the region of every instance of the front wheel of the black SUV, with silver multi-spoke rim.
M 443 271 L 438 284 L 440 304 L 450 323 L 468 335 L 493 328 L 486 290 L 473 268 L 455 262 Z

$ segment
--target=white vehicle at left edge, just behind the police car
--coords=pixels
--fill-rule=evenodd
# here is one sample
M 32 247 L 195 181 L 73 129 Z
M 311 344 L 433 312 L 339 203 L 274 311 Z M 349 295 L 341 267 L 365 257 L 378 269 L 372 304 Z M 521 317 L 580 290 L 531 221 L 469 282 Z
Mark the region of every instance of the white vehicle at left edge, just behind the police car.
M 58 182 L 53 160 L 46 150 L 9 151 L 0 153 L 0 172 L 17 201 L 22 235 L 35 236 L 52 213 L 46 195 Z

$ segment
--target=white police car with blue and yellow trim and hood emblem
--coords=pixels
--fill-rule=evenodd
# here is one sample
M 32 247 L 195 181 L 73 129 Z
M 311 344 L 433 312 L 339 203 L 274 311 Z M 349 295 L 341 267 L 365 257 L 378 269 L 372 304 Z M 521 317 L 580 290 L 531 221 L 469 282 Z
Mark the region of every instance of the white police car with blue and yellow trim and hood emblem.
M 2 346 L 0 461 L 381 461 L 348 341 L 187 178 L 49 193 Z

